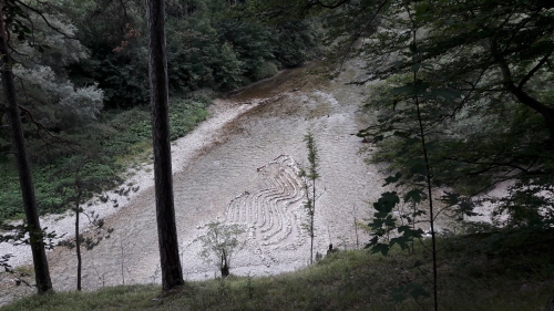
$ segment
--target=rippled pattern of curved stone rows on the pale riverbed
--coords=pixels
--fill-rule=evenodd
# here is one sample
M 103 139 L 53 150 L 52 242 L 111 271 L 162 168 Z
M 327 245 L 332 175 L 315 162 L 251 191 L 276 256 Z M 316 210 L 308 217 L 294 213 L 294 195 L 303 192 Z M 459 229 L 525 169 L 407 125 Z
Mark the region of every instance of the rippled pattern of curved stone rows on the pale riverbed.
M 276 157 L 257 172 L 266 187 L 232 199 L 225 210 L 225 222 L 246 224 L 248 247 L 269 266 L 276 258 L 268 247 L 296 249 L 306 241 L 301 228 L 306 215 L 301 204 L 305 190 L 298 165 L 289 155 Z

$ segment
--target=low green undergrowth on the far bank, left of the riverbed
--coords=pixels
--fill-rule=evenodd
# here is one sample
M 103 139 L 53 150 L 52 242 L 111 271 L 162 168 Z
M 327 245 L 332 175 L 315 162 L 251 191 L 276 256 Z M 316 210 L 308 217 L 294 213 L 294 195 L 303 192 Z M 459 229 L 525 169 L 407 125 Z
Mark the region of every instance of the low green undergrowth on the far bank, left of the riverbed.
M 172 139 L 185 136 L 207 116 L 212 96 L 174 99 L 170 104 Z M 121 174 L 133 162 L 147 159 L 152 148 L 148 106 L 106 111 L 92 124 L 73 133 L 42 133 L 28 137 L 29 154 L 41 214 L 64 211 L 75 198 L 75 172 L 91 197 L 123 182 Z M 23 218 L 19 175 L 12 156 L 0 158 L 0 222 Z

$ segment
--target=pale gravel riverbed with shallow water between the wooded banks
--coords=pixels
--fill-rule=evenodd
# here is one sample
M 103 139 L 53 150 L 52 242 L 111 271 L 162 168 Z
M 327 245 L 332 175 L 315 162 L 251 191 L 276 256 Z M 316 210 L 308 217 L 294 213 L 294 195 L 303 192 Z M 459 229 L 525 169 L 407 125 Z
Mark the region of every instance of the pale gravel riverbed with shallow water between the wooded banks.
M 212 117 L 173 145 L 176 221 L 185 279 L 216 274 L 214 265 L 198 257 L 204 225 L 214 221 L 246 224 L 252 241 L 232 262 L 232 273 L 271 274 L 305 267 L 309 261 L 305 211 L 296 169 L 305 163 L 302 137 L 315 133 L 320 153 L 316 204 L 315 249 L 328 245 L 356 247 L 356 217 L 367 217 L 367 200 L 380 194 L 382 177 L 357 155 L 361 142 L 353 135 L 362 124 L 358 108 L 365 89 L 345 85 L 357 74 L 350 63 L 334 81 L 317 73 L 318 66 L 281 72 L 234 95 L 215 101 Z M 83 288 L 122 283 L 160 282 L 153 174 L 151 165 L 130 170 L 122 188 L 126 196 L 110 193 L 94 209 L 114 228 L 109 239 L 83 253 Z M 116 203 L 114 200 L 117 200 Z M 116 208 L 114 206 L 117 205 Z M 71 232 L 72 218 L 44 219 L 43 226 Z M 57 220 L 55 220 L 57 219 Z M 358 237 L 360 243 L 363 237 Z M 0 253 L 14 252 L 21 265 L 23 249 L 0 245 Z M 49 252 L 57 290 L 75 287 L 74 250 Z

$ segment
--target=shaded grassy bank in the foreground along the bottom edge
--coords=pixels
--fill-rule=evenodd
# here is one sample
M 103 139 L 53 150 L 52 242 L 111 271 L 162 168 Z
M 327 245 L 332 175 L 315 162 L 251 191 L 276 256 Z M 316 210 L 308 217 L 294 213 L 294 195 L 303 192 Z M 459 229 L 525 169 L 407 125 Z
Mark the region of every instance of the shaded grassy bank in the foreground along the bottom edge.
M 553 241 L 553 230 L 441 239 L 440 309 L 543 310 L 554 290 Z M 431 310 L 429 261 L 423 241 L 414 253 L 340 251 L 275 277 L 187 282 L 165 294 L 158 286 L 61 292 L 0 310 Z

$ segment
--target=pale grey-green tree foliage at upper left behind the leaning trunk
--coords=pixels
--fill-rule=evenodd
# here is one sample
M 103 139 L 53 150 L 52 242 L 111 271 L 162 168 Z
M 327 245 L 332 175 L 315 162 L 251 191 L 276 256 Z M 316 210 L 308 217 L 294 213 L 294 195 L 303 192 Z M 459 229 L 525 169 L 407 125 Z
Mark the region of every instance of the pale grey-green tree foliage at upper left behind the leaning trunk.
M 72 39 L 75 27 L 43 2 L 33 3 L 32 9 L 16 1 L 4 4 L 8 27 L 19 33 L 10 46 L 16 51 L 13 73 L 18 102 L 27 113 L 24 125 L 30 124 L 32 131 L 42 127 L 59 132 L 94 121 L 103 105 L 102 90 L 95 84 L 74 85 L 64 70 L 88 55 L 86 49 Z

